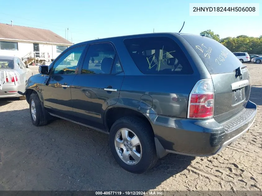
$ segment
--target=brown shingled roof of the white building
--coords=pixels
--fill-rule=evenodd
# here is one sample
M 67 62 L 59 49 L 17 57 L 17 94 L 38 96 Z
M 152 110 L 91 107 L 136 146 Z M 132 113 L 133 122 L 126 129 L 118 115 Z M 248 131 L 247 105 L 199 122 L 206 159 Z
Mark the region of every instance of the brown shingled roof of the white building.
M 3 23 L 0 23 L 0 39 L 73 45 L 72 42 L 47 29 Z

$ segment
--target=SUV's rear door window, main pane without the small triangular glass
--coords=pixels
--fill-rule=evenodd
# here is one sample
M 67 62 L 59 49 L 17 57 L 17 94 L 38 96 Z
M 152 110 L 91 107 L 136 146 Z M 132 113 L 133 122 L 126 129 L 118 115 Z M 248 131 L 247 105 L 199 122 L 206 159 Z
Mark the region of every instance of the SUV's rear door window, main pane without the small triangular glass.
M 81 74 L 110 74 L 114 56 L 115 50 L 110 43 L 90 45 Z

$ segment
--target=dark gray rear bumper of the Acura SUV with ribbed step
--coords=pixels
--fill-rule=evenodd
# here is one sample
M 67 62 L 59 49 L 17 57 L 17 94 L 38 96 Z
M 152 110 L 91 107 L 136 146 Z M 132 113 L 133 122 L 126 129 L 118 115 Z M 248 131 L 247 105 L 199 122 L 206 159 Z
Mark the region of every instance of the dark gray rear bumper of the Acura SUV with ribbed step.
M 220 124 L 206 120 L 179 119 L 148 115 L 155 133 L 158 156 L 175 153 L 189 156 L 212 156 L 237 140 L 255 121 L 256 105 L 248 101 L 246 108 L 230 121 Z

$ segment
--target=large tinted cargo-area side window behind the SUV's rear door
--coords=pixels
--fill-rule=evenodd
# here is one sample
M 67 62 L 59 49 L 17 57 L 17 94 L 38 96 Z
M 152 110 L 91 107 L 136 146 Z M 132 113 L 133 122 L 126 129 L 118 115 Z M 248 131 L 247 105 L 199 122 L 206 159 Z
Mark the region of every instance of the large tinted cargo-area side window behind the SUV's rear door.
M 144 74 L 192 74 L 184 52 L 169 37 L 140 37 L 125 39 L 133 61 Z

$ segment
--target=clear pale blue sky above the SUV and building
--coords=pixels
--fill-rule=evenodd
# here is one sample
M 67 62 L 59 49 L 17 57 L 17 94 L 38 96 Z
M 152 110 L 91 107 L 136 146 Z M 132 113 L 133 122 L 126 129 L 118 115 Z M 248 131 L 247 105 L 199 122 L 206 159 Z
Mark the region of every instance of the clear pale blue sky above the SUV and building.
M 211 29 L 220 38 L 262 35 L 260 16 L 189 16 L 189 3 L 178 0 L 0 0 L 0 23 L 49 29 L 78 43 L 95 38 L 140 33 L 199 34 Z M 259 0 L 219 0 L 209 3 L 259 3 Z M 68 30 L 67 30 L 68 28 Z

